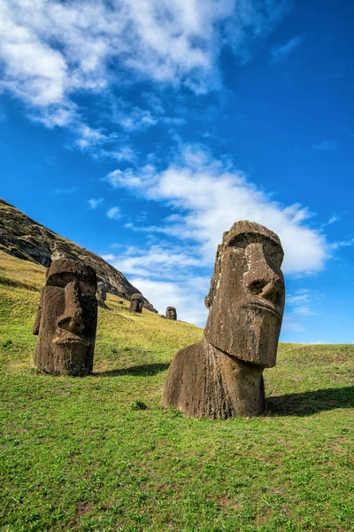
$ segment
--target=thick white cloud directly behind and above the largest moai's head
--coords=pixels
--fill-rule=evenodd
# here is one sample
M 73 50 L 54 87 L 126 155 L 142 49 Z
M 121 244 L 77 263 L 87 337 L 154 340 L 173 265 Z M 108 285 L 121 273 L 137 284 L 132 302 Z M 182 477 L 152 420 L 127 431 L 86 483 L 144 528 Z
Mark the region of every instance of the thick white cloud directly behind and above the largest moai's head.
M 198 256 L 204 266 L 212 264 L 223 231 L 242 219 L 262 223 L 279 234 L 286 273 L 321 270 L 327 259 L 325 237 L 306 224 L 312 216 L 306 207 L 284 207 L 271 200 L 230 162 L 213 159 L 201 146 L 186 146 L 164 170 L 152 165 L 115 170 L 107 179 L 115 187 L 125 187 L 147 200 L 161 201 L 178 210 L 177 220 L 166 220 L 148 231 L 198 243 Z M 132 228 L 139 231 L 134 225 Z

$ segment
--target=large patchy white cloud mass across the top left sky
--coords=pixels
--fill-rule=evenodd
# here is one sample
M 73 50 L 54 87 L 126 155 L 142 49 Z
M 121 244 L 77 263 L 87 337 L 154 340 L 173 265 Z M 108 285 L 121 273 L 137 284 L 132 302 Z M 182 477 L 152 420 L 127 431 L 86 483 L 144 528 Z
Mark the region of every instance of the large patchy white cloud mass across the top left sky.
M 0 90 L 46 127 L 78 120 L 75 93 L 103 94 L 117 83 L 206 92 L 220 85 L 221 49 L 249 59 L 253 41 L 287 8 L 285 0 L 0 0 Z M 154 121 L 150 112 L 135 114 L 124 127 Z

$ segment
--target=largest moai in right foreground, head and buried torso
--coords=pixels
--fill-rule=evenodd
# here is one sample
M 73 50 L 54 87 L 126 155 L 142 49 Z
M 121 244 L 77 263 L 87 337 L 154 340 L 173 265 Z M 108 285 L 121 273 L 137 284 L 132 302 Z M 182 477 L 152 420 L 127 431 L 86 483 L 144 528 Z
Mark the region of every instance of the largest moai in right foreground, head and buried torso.
M 236 222 L 218 247 L 209 317 L 201 342 L 173 359 L 165 407 L 194 418 L 257 416 L 265 411 L 263 371 L 275 365 L 285 301 L 278 236 Z

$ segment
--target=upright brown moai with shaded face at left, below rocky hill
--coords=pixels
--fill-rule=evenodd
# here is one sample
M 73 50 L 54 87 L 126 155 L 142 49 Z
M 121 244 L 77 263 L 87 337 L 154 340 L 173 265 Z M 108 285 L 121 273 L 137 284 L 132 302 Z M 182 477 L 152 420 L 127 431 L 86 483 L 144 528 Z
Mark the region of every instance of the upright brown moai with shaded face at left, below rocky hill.
M 35 366 L 55 375 L 87 375 L 96 339 L 96 271 L 58 259 L 46 278 L 33 330 L 38 335 Z

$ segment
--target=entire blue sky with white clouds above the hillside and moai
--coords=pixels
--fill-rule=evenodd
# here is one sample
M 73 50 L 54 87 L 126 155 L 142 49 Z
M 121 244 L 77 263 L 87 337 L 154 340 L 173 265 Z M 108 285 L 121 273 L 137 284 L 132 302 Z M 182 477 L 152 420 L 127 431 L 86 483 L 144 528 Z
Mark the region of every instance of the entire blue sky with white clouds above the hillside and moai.
M 281 340 L 351 343 L 354 5 L 0 0 L 1 196 L 204 325 L 216 247 L 277 232 Z

